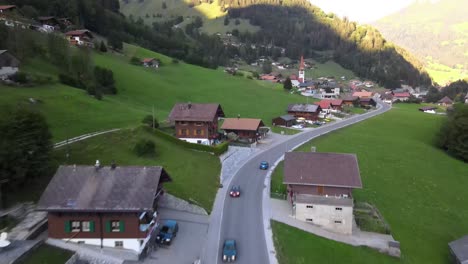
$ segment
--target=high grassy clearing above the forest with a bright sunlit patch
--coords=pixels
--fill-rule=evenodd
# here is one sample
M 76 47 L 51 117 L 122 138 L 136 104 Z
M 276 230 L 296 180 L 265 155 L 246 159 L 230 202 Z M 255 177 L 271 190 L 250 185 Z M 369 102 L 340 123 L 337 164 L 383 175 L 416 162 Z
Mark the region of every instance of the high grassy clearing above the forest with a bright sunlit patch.
M 148 25 L 183 16 L 184 22 L 179 24 L 182 28 L 190 23 L 194 17 L 199 16 L 204 21 L 202 31 L 209 34 L 231 32 L 233 29 L 250 32 L 259 30 L 259 27 L 251 25 L 248 19 L 239 19 L 238 25 L 235 24 L 234 19 L 231 19 L 229 25 L 224 25 L 224 16 L 227 15 L 227 12 L 220 10 L 217 0 L 211 4 L 202 3 L 195 7 L 190 7 L 190 2 L 188 0 L 122 0 L 120 1 L 120 11 L 135 19 L 141 17 Z M 165 3 L 166 8 L 163 8 L 163 3 Z

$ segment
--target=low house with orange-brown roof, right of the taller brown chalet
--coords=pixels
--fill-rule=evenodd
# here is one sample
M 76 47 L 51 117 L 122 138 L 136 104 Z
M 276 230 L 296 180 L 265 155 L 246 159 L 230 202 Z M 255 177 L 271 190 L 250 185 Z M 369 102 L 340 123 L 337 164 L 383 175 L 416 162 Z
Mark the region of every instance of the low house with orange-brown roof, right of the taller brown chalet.
M 235 133 L 240 139 L 256 142 L 260 137 L 259 129 L 265 126 L 261 119 L 254 118 L 225 118 L 221 129 L 225 134 Z

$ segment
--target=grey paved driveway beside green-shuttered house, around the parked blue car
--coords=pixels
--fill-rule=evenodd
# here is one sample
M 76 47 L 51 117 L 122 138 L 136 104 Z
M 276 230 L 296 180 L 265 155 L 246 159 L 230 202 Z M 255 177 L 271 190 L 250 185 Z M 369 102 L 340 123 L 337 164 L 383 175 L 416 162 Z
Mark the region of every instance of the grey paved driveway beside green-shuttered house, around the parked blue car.
M 142 263 L 192 264 L 200 258 L 206 241 L 209 216 L 171 209 L 159 209 L 161 222 L 173 219 L 179 223 L 179 232 L 170 246 L 157 247 Z

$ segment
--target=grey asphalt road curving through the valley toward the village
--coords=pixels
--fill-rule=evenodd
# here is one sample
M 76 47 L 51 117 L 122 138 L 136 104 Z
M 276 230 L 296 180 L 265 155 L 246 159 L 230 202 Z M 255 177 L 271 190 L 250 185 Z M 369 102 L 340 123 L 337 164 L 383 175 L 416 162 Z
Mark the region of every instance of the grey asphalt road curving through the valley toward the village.
M 264 181 L 267 171 L 259 170 L 259 163 L 266 160 L 273 164 L 285 152 L 302 145 L 312 138 L 382 114 L 389 109 L 391 109 L 390 106 L 378 101 L 377 109 L 374 111 L 296 134 L 286 141 L 274 144 L 270 148 L 257 153 L 244 164 L 239 164 L 238 171 L 231 179 L 223 183 L 224 188 L 220 189 L 216 196 L 201 263 L 222 263 L 221 251 L 225 239 L 235 239 L 237 241 L 238 260 L 236 263 L 269 263 L 262 213 L 262 195 L 266 188 Z M 228 191 L 233 185 L 241 186 L 242 193 L 239 198 L 229 197 Z

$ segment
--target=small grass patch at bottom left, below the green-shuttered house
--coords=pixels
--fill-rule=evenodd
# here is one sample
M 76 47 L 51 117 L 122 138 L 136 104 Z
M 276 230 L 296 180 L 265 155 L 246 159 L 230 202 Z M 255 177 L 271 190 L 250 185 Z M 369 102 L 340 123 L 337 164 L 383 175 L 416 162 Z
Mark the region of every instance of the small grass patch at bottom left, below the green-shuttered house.
M 63 264 L 71 258 L 73 252 L 61 248 L 52 247 L 46 244 L 34 249 L 19 264 Z

